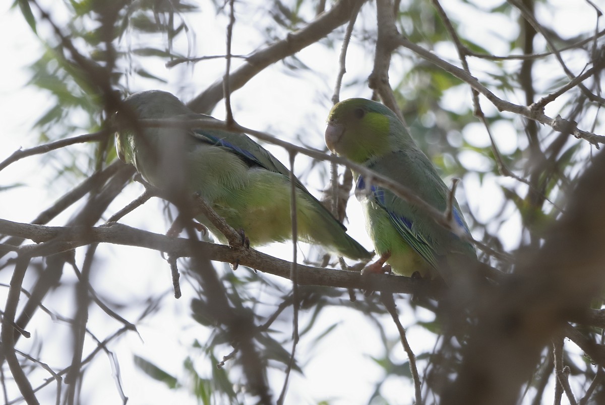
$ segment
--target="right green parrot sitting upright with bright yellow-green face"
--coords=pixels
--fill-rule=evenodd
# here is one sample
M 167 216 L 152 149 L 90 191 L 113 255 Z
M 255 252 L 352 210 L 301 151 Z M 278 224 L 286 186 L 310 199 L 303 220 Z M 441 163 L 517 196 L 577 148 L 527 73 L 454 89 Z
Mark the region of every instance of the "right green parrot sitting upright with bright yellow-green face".
M 325 143 L 330 151 L 401 183 L 437 210 L 446 210 L 450 190 L 393 111 L 371 100 L 348 99 L 332 108 L 327 122 Z M 380 255 L 369 271 L 379 271 L 387 263 L 402 276 L 418 272 L 448 282 L 450 277 L 443 273 L 450 270 L 442 268 L 451 265 L 451 258 L 476 262 L 473 245 L 414 204 L 384 187 L 368 185 L 360 173 L 354 174 L 367 232 Z M 453 218 L 468 232 L 456 201 Z

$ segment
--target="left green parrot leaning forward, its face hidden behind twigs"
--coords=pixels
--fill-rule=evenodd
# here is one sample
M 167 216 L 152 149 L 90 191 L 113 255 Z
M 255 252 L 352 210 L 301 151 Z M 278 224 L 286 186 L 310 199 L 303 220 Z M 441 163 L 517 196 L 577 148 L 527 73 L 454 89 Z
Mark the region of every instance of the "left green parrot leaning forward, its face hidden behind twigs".
M 137 92 L 125 104 L 140 119 L 215 120 L 195 114 L 165 91 Z M 231 227 L 243 230 L 251 245 L 292 238 L 290 171 L 246 135 L 183 125 L 143 128 L 134 123 L 116 133 L 116 148 L 123 161 L 169 195 L 178 190 L 199 193 Z M 299 239 L 351 259 L 373 256 L 298 180 L 295 187 Z M 208 218 L 195 219 L 226 242 Z

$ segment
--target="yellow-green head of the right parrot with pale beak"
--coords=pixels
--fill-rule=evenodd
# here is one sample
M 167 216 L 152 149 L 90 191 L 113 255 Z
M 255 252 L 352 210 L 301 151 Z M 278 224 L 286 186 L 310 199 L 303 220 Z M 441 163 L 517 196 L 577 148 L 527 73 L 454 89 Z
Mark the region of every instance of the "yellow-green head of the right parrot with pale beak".
M 399 120 L 381 103 L 348 99 L 332 108 L 327 122 L 325 144 L 330 151 L 363 163 L 393 149 L 389 135 Z

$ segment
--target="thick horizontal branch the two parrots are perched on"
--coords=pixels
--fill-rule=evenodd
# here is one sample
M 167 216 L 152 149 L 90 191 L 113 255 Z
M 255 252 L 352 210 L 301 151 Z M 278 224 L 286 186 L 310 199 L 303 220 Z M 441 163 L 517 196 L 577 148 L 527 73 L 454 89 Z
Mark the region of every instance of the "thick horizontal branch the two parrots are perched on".
M 211 260 L 236 263 L 264 273 L 290 279 L 291 263 L 273 258 L 268 254 L 244 247 L 229 247 L 209 242 L 192 242 L 185 238 L 174 238 L 132 228 L 123 224 L 105 227 L 47 227 L 23 224 L 0 219 L 0 233 L 41 242 L 15 248 L 30 257 L 67 251 L 91 243 L 110 243 L 143 247 L 164 251 L 176 257 L 191 257 L 195 251 L 203 251 Z M 427 280 L 393 276 L 391 274 L 368 274 L 362 277 L 357 271 L 334 270 L 298 264 L 298 283 L 323 285 L 326 287 L 360 288 L 389 293 L 434 294 L 437 287 Z

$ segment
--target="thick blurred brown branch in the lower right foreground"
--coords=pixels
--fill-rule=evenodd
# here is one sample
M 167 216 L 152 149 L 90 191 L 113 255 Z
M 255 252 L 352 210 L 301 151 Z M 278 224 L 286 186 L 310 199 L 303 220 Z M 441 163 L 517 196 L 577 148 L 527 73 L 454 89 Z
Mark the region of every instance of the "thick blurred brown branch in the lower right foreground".
M 541 247 L 518 258 L 520 282 L 503 285 L 482 305 L 462 367 L 442 404 L 514 403 L 565 319 L 583 314 L 599 296 L 605 283 L 603 170 L 601 153 L 578 180 L 566 213 L 545 232 Z

